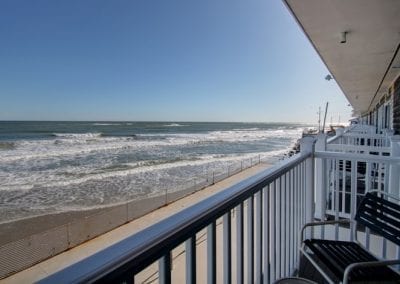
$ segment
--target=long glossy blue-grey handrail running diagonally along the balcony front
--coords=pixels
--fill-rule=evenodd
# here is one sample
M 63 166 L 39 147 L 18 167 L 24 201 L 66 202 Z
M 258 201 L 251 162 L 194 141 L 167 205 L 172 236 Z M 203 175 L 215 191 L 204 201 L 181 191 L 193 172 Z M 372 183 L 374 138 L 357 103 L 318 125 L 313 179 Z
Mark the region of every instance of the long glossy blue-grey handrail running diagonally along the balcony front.
M 312 153 L 300 153 L 75 263 L 39 283 L 88 283 L 115 271 L 140 271 Z

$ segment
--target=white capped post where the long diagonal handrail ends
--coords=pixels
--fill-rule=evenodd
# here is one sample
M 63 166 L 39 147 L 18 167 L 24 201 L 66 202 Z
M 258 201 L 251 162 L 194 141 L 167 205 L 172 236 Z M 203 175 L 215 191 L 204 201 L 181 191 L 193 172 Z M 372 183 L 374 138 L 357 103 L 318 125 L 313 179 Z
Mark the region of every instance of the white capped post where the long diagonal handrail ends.
M 300 153 L 307 155 L 314 153 L 313 137 L 304 137 L 300 139 Z M 311 222 L 314 216 L 314 155 L 305 160 L 305 222 Z M 312 234 L 308 231 L 306 237 L 310 238 Z

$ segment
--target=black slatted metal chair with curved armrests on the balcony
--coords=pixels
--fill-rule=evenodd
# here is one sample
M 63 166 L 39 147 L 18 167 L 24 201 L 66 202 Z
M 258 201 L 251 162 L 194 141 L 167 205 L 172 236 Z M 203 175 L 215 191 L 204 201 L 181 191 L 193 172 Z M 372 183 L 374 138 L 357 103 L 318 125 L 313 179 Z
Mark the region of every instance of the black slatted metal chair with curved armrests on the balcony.
M 361 224 L 400 246 L 400 205 L 385 199 L 383 193 L 378 195 L 367 193 L 364 196 L 355 216 L 356 225 Z M 307 227 L 351 222 L 354 221 L 308 223 L 303 227 L 301 237 Z M 302 239 L 301 252 L 328 283 L 400 283 L 400 275 L 389 267 L 400 264 L 400 259 L 378 259 L 357 241 L 357 234 L 354 237 L 355 242 Z

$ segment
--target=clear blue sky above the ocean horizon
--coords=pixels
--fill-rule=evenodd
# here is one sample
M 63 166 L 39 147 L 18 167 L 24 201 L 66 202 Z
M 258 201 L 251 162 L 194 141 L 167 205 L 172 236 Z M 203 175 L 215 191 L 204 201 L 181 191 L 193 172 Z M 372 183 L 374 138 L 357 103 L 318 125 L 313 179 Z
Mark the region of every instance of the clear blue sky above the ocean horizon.
M 0 120 L 346 121 L 281 0 L 2 0 Z

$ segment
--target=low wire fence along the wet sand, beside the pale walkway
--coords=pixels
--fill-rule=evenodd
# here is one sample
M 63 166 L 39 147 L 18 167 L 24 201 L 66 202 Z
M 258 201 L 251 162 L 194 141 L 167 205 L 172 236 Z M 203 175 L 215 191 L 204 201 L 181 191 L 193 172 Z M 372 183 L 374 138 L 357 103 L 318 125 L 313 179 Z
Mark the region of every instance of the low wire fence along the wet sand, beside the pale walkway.
M 267 161 L 257 155 L 196 177 L 184 189 L 166 189 L 162 194 L 104 208 L 100 212 L 0 246 L 0 279 L 102 235 L 168 203 L 222 181 Z M 265 160 L 265 161 L 264 161 Z

